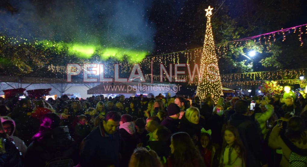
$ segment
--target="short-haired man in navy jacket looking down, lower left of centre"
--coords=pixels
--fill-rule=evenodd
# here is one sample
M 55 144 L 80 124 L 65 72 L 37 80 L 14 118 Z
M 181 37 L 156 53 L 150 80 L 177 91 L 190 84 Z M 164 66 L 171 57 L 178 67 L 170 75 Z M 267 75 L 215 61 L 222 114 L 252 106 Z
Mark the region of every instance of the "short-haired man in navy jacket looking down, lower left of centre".
M 119 166 L 120 119 L 119 113 L 110 111 L 99 126 L 87 135 L 81 152 L 82 167 Z

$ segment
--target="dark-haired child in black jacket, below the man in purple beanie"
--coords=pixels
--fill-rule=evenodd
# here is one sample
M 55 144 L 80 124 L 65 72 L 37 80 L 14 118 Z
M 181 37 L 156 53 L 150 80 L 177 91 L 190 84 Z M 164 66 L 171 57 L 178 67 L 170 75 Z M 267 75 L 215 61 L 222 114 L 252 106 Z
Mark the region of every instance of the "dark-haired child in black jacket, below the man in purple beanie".
M 169 138 L 171 137 L 171 132 L 165 126 L 158 126 L 153 132 L 153 138 L 155 141 L 148 141 L 146 146 L 148 149 L 152 149 L 158 154 L 162 164 L 166 162 L 166 158 L 169 157 Z

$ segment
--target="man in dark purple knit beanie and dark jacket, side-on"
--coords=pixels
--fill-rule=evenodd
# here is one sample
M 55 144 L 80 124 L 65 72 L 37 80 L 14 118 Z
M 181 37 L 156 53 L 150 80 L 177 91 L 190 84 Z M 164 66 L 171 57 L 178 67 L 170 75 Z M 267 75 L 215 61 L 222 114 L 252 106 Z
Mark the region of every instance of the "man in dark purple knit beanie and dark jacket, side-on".
M 175 103 L 170 103 L 167 107 L 167 114 L 169 116 L 161 122 L 161 125 L 169 129 L 172 134 L 178 132 L 179 113 L 180 108 L 178 107 L 178 105 L 176 105 Z

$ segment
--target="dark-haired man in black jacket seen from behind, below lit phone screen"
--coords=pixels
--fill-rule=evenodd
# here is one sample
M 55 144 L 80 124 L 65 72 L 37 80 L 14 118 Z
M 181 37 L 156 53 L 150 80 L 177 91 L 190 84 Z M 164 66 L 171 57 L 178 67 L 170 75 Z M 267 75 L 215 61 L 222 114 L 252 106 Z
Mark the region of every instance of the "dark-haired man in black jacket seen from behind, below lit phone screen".
M 246 100 L 238 100 L 235 103 L 235 113 L 232 116 L 230 125 L 238 128 L 240 137 L 247 151 L 247 167 L 266 167 L 267 159 L 262 150 L 260 129 L 249 115 L 250 103 Z

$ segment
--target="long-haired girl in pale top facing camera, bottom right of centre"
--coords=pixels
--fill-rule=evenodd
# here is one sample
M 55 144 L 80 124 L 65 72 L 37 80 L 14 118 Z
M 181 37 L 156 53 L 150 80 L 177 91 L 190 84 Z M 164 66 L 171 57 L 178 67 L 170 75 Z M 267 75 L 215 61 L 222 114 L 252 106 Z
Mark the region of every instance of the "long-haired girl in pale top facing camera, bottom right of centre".
M 220 166 L 245 167 L 245 149 L 238 129 L 228 126 L 224 132 Z

